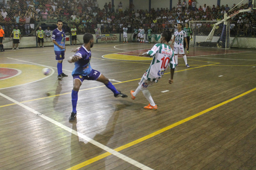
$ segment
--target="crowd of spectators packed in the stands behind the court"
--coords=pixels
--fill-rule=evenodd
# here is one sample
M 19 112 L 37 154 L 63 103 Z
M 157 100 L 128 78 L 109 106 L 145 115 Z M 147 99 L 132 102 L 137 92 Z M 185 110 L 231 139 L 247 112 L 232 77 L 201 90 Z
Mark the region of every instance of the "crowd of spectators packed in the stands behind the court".
M 224 13 L 230 15 L 239 9 L 248 8 L 247 4 L 242 4 L 240 8 L 229 12 L 235 4 L 231 7 L 228 4 L 198 6 L 196 0 L 179 0 L 172 9 L 152 8 L 148 11 L 135 10 L 132 3 L 124 10 L 122 2 L 118 7 L 109 2 L 99 8 L 97 0 L 8 0 L 0 6 L 0 25 L 7 36 L 15 25 L 18 25 L 21 34 L 34 35 L 33 31 L 38 26 L 54 26 L 58 19 L 62 19 L 70 28 L 75 25 L 77 34 L 94 34 L 94 28 L 101 28 L 103 34 L 122 33 L 124 25 L 128 26 L 128 33 L 138 26 L 143 26 L 145 30 L 150 26 L 152 33 L 161 33 L 164 29 L 172 31 L 175 23 L 219 21 L 223 19 Z M 255 10 L 232 17 L 230 23 L 231 35 L 256 35 Z

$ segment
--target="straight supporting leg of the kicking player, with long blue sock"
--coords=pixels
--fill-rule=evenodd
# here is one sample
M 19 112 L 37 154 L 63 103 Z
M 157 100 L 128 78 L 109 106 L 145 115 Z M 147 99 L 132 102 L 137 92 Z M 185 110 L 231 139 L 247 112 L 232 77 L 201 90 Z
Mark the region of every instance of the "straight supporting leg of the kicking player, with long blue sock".
M 72 102 L 72 113 L 71 116 L 69 117 L 69 121 L 74 121 L 76 118 L 76 105 L 77 105 L 77 100 L 78 100 L 78 91 L 80 89 L 80 86 L 82 85 L 81 78 L 79 75 L 74 75 L 73 76 L 73 90 L 71 93 L 71 102 Z

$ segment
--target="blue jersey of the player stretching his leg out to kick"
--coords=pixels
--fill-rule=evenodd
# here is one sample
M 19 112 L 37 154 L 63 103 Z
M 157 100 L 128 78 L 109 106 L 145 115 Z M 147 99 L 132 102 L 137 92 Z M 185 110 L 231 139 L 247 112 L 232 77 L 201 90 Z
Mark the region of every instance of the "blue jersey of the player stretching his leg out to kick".
M 87 76 L 91 72 L 91 50 L 88 51 L 83 45 L 80 49 L 75 53 L 76 56 L 82 57 L 74 63 L 75 68 L 73 69 L 73 75 L 82 75 Z

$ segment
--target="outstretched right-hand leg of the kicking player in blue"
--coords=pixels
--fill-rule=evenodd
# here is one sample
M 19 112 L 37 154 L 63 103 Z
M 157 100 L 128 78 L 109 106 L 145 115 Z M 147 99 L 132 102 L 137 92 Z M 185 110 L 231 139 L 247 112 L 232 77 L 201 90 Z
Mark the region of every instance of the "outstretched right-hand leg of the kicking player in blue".
M 110 80 L 104 75 L 102 75 L 99 71 L 92 69 L 88 77 L 89 77 L 88 80 L 96 80 L 106 85 L 106 87 L 114 93 L 115 97 L 119 97 L 119 96 L 128 97 L 126 94 L 123 94 L 120 91 L 118 91 L 116 87 L 112 85 Z

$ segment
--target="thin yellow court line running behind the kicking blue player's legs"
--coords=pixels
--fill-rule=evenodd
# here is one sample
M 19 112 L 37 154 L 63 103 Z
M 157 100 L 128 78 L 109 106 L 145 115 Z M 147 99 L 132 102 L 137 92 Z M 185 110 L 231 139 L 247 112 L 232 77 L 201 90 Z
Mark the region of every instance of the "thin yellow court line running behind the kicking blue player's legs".
M 219 64 L 219 63 L 215 63 L 215 64 Z M 200 67 L 196 67 L 196 68 L 201 68 L 201 67 L 206 67 L 206 66 L 211 66 L 211 65 L 214 65 L 214 64 L 204 65 L 204 66 L 200 66 Z M 187 69 L 183 69 L 183 70 L 178 70 L 178 71 L 175 71 L 174 73 L 176 73 L 176 72 L 181 72 L 181 71 L 185 71 L 185 70 L 190 70 L 190 69 L 195 69 L 195 68 L 187 68 Z M 165 73 L 165 74 L 170 74 L 170 73 Z M 136 80 L 140 80 L 140 79 L 141 79 L 141 78 L 137 78 L 137 79 L 133 79 L 133 80 L 127 80 L 127 81 L 122 81 L 122 82 L 118 82 L 118 83 L 113 83 L 113 85 L 117 85 L 117 84 L 120 84 L 120 83 L 131 82 L 131 81 L 136 81 Z M 91 87 L 91 88 L 79 90 L 79 92 L 86 91 L 86 90 L 91 90 L 91 89 L 96 89 L 96 88 L 100 88 L 100 87 L 105 87 L 105 85 L 101 85 L 101 86 L 96 86 L 96 87 Z M 56 96 L 62 96 L 62 95 L 71 94 L 71 93 L 72 93 L 72 92 L 61 93 L 61 94 L 56 94 L 56 95 L 52 95 L 52 96 L 41 97 L 41 98 L 37 98 L 37 99 L 32 99 L 32 100 L 28 100 L 28 101 L 23 101 L 23 102 L 20 102 L 20 103 L 33 102 L 33 101 L 43 100 L 43 99 L 47 99 L 47 98 L 51 98 L 51 97 L 56 97 Z M 0 108 L 2 108 L 2 107 L 7 107 L 7 106 L 11 106 L 11 105 L 15 105 L 15 103 L 2 105 L 2 106 L 0 106 Z

